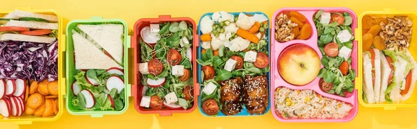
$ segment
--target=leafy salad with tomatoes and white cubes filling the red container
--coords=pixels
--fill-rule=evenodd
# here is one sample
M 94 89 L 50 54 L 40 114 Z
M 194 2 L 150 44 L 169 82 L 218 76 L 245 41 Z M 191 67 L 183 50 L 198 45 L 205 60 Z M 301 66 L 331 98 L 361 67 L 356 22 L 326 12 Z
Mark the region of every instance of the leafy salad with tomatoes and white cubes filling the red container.
M 193 107 L 193 25 L 185 21 L 150 24 L 140 30 L 142 99 L 152 110 Z

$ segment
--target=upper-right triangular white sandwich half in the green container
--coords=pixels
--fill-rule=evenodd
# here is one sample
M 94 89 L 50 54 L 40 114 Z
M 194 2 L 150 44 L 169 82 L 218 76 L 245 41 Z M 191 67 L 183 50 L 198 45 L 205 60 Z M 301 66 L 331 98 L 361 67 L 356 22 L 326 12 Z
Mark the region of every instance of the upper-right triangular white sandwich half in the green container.
M 123 25 L 122 24 L 79 24 L 81 31 L 103 47 L 117 62 L 123 58 Z

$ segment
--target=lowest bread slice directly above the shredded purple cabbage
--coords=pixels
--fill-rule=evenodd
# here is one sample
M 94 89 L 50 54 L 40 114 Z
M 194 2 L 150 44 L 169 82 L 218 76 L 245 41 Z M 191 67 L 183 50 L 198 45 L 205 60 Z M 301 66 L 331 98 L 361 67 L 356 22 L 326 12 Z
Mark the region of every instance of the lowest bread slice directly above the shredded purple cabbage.
M 56 41 L 55 37 L 20 35 L 15 33 L 4 33 L 0 35 L 0 41 L 22 41 L 22 42 L 38 42 L 51 44 Z

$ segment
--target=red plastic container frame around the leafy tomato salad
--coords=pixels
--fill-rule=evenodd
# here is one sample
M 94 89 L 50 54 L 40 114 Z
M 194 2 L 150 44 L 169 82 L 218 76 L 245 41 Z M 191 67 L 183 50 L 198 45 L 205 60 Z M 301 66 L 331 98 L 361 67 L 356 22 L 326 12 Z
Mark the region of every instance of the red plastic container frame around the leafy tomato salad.
M 181 22 L 185 21 L 188 24 L 193 25 L 193 57 L 196 53 L 196 47 L 198 46 L 198 35 L 196 34 L 196 27 L 194 20 L 189 17 L 171 17 L 170 15 L 160 15 L 158 18 L 143 18 L 136 21 L 135 26 L 133 26 L 133 36 L 131 37 L 132 42 L 132 54 L 131 56 L 133 59 L 133 85 L 132 85 L 132 91 L 131 94 L 133 96 L 134 106 L 136 110 L 139 113 L 142 114 L 159 114 L 159 116 L 172 116 L 173 113 L 190 113 L 195 110 L 195 107 L 197 107 L 197 95 L 199 94 L 199 85 L 197 85 L 197 69 L 196 65 L 197 62 L 195 62 L 195 58 L 192 59 L 192 66 L 193 66 L 193 83 L 195 84 L 194 87 L 194 103 L 193 107 L 189 108 L 188 110 L 170 110 L 167 108 L 162 108 L 161 110 L 151 110 L 146 109 L 145 107 L 140 107 L 140 101 L 142 100 L 142 74 L 139 72 L 138 64 L 140 63 L 140 44 L 139 44 L 139 38 L 140 38 L 140 30 L 144 28 L 145 26 L 149 26 L 149 24 L 160 24 L 165 22 Z

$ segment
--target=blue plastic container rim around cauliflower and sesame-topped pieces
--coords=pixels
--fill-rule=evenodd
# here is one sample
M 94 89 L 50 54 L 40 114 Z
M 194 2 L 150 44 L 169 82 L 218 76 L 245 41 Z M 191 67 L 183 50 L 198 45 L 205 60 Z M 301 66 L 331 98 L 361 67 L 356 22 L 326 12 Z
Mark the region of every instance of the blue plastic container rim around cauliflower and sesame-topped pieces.
M 240 12 L 228 12 L 229 14 L 232 14 L 232 15 L 239 15 L 239 13 Z M 255 15 L 255 14 L 262 14 L 262 15 L 265 15 L 265 13 L 263 13 L 263 12 L 243 12 L 243 13 L 245 13 L 245 14 L 248 14 L 248 15 Z M 201 20 L 202 20 L 202 18 L 204 17 L 204 16 L 206 16 L 206 15 L 208 15 L 208 16 L 211 16 L 211 15 L 213 15 L 213 12 L 208 12 L 208 13 L 206 13 L 206 14 L 204 14 L 204 15 L 202 15 L 202 17 L 200 17 L 200 19 L 199 19 L 199 22 L 201 22 Z M 268 15 L 265 15 L 266 17 L 268 17 Z M 268 17 L 268 24 L 270 24 L 270 20 L 269 20 L 269 17 Z M 273 30 L 273 28 L 268 28 L 268 31 L 266 31 L 266 33 L 265 33 L 265 36 L 267 37 L 266 39 L 267 39 L 267 42 L 268 42 L 268 53 L 270 53 L 270 30 Z M 198 35 L 202 35 L 202 32 L 200 31 L 200 25 L 198 25 Z M 201 44 L 202 42 L 200 41 L 200 40 L 198 40 L 198 44 L 197 44 L 197 46 L 198 46 L 198 51 L 197 51 L 197 58 L 202 58 L 201 56 L 202 56 L 202 46 L 199 46 L 199 44 Z M 268 54 L 268 56 L 269 56 L 269 58 L 270 58 L 270 54 Z M 272 70 L 272 65 L 270 65 L 270 67 L 271 67 L 271 70 Z M 198 84 L 196 84 L 196 85 L 199 85 L 199 89 L 202 89 L 202 86 L 200 85 L 200 84 L 202 84 L 202 65 L 199 65 L 198 64 Z M 271 84 L 273 84 L 273 83 L 271 83 L 270 82 L 270 72 L 268 72 L 267 74 L 266 74 L 266 78 L 267 78 L 267 80 L 268 80 L 268 85 L 269 85 L 269 87 L 271 86 Z M 271 90 L 270 88 L 268 89 L 268 90 Z M 200 92 L 200 91 L 199 91 Z M 271 97 L 271 94 L 269 94 L 269 97 L 268 98 L 270 98 Z M 204 115 L 204 116 L 206 116 L 206 117 L 208 117 L 208 115 L 202 110 L 202 99 L 200 98 L 200 97 L 198 97 L 198 103 L 199 103 L 199 111 Z M 243 105 L 245 105 L 245 104 L 243 104 Z M 265 111 L 265 113 L 266 112 L 268 112 L 269 111 L 269 109 L 270 109 L 270 105 L 271 105 L 271 103 L 268 103 L 268 107 L 266 108 L 266 111 Z M 264 113 L 264 114 L 265 114 Z M 238 114 L 235 114 L 235 115 L 232 115 L 232 116 L 227 116 L 227 115 L 225 115 L 225 114 L 223 114 L 221 111 L 217 114 L 217 116 L 216 117 L 234 117 L 234 116 L 259 116 L 259 115 L 263 115 L 263 114 L 254 114 L 254 115 L 251 115 L 249 112 L 247 112 L 247 109 L 246 109 L 246 107 L 245 106 L 243 106 L 243 110 L 241 111 L 241 112 L 239 112 Z

